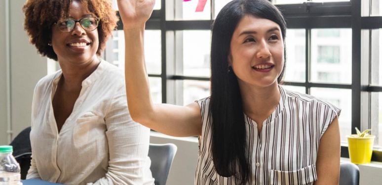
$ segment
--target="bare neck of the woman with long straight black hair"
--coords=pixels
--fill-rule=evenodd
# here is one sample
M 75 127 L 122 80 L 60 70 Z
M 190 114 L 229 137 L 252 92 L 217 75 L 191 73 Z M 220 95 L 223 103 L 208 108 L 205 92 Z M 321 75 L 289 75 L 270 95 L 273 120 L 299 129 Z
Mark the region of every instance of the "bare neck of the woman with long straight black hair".
M 263 117 L 270 115 L 280 101 L 280 90 L 275 82 L 267 87 L 255 87 L 239 83 L 243 110 L 246 115 Z

